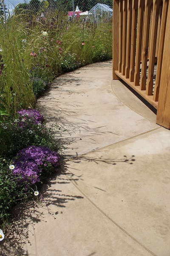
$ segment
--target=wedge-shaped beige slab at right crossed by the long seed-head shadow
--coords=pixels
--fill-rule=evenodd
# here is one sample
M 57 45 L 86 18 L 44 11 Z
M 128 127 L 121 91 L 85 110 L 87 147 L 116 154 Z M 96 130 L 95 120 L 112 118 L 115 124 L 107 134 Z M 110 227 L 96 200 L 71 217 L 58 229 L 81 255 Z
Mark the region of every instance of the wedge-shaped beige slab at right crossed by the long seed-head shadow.
M 158 128 L 67 163 L 80 191 L 156 256 L 170 255 L 169 152 Z

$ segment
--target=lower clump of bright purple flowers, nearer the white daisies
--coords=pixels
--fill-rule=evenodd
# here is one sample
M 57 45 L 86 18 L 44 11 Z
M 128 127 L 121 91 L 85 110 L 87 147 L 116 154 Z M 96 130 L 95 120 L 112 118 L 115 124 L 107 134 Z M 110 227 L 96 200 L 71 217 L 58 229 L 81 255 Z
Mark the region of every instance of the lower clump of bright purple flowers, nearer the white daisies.
M 20 150 L 13 160 L 14 177 L 17 183 L 24 185 L 25 190 L 34 183 L 44 181 L 59 166 L 59 154 L 50 148 L 28 146 Z

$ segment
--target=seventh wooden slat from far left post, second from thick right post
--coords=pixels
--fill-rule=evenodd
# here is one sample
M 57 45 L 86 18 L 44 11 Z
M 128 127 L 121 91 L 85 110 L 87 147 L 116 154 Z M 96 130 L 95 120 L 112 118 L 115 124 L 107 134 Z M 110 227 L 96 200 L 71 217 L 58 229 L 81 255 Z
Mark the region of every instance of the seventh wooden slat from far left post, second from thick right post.
M 153 0 L 153 15 L 152 15 L 152 27 L 150 35 L 150 52 L 149 52 L 149 67 L 146 84 L 146 94 L 153 95 L 153 71 L 155 63 L 155 51 L 156 51 L 156 35 L 158 28 L 158 15 L 159 15 L 160 0 Z

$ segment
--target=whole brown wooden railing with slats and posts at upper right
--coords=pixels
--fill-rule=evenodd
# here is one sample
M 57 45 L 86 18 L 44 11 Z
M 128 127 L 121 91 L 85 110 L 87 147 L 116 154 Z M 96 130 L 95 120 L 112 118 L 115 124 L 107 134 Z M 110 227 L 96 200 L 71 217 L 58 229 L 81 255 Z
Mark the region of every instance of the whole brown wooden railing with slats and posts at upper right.
M 136 90 L 170 129 L 169 0 L 113 0 L 113 79 Z

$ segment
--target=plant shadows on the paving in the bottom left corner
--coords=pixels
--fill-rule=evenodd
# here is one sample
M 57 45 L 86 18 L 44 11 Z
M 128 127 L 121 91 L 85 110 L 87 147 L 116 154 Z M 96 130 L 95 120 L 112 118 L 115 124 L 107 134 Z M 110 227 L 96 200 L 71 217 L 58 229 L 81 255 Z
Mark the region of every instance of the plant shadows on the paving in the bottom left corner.
M 57 221 L 57 215 L 62 214 L 62 209 L 67 206 L 68 201 L 83 198 L 79 195 L 69 195 L 62 192 L 62 184 L 70 183 L 62 174 L 63 172 L 60 170 L 59 173 L 51 175 L 47 183 L 39 189 L 39 195 L 43 196 L 43 201 L 19 203 L 12 209 L 11 225 L 5 239 L 0 242 L 1 256 L 28 256 L 24 244 L 31 245 L 29 237 L 34 236 L 34 225 L 39 222 L 48 222 L 51 218 Z M 59 189 L 54 188 L 54 186 L 57 187 L 57 184 Z M 51 209 L 52 205 L 55 208 L 52 207 Z

